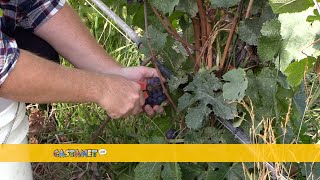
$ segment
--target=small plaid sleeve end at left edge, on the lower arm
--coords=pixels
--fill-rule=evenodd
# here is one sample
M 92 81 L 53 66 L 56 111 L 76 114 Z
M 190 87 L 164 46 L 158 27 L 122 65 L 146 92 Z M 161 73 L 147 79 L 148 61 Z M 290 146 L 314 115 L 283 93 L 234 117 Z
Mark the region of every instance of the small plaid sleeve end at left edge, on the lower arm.
M 0 85 L 14 68 L 19 55 L 20 50 L 16 41 L 2 34 L 2 39 L 0 40 Z

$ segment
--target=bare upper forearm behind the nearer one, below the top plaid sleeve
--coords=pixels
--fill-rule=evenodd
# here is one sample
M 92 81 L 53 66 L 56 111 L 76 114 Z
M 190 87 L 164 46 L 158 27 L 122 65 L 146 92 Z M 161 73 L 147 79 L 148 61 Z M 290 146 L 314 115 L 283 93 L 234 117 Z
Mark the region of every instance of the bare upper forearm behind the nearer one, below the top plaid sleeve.
M 120 70 L 119 64 L 96 42 L 68 4 L 36 29 L 35 34 L 79 69 L 99 73 L 117 73 Z

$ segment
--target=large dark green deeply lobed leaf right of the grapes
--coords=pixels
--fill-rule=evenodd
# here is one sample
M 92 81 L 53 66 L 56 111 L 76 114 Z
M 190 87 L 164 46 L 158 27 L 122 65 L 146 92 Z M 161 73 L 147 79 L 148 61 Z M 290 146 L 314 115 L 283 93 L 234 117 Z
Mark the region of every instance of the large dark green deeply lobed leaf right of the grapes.
M 189 128 L 202 127 L 203 121 L 211 113 L 208 105 L 211 105 L 215 115 L 221 118 L 233 119 L 237 116 L 236 105 L 225 102 L 221 90 L 221 81 L 208 70 L 201 70 L 184 88 L 186 93 L 179 99 L 178 109 L 182 111 L 189 107 L 186 116 Z M 192 106 L 196 102 L 197 105 Z

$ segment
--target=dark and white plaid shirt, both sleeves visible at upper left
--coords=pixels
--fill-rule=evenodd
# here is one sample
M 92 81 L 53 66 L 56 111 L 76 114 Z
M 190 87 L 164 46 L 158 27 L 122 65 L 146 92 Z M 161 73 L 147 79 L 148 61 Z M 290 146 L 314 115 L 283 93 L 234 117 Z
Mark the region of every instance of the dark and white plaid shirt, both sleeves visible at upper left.
M 20 50 L 12 37 L 16 27 L 33 32 L 56 14 L 65 0 L 0 0 L 0 85 L 14 68 Z

